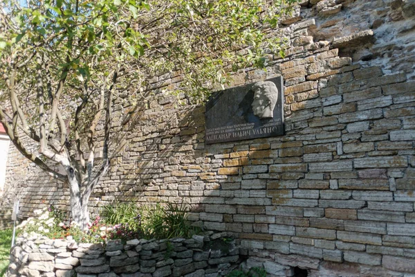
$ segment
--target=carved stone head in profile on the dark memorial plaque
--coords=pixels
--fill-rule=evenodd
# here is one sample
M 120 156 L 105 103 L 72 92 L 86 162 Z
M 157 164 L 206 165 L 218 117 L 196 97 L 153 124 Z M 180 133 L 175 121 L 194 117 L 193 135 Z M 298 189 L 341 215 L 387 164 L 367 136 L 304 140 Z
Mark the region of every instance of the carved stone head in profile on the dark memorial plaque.
M 274 107 L 277 104 L 278 89 L 273 82 L 257 82 L 252 87 L 254 100 L 252 111 L 259 118 L 273 118 Z

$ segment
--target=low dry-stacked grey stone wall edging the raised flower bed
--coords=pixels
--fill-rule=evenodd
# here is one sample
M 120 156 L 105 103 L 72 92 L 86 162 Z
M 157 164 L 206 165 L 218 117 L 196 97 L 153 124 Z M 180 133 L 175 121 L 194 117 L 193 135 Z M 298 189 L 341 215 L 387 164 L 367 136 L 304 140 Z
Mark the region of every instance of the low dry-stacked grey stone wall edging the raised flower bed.
M 110 240 L 105 245 L 32 235 L 17 238 L 11 253 L 8 277 L 216 277 L 240 262 L 235 241 L 212 232 L 187 240 Z

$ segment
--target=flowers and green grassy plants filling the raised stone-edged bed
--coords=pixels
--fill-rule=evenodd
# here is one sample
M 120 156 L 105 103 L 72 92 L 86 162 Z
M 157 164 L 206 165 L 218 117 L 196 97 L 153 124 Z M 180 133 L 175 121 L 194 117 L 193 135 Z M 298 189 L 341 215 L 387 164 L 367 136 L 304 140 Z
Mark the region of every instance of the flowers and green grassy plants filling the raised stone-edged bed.
M 19 233 L 35 232 L 48 238 L 68 238 L 77 242 L 123 241 L 135 238 L 189 238 L 200 231 L 187 222 L 189 208 L 184 204 L 139 207 L 135 203 L 113 203 L 102 207 L 88 229 L 82 231 L 75 222 L 64 222 L 64 213 L 50 206 L 36 211 L 39 217 L 30 217 L 21 224 Z

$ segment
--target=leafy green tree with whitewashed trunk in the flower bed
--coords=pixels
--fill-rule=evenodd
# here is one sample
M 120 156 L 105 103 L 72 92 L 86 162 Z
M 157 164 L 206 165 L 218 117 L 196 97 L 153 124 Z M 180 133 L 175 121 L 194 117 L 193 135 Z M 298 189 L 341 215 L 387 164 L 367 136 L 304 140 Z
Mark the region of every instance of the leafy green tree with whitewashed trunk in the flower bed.
M 148 80 L 165 73 L 183 76 L 173 93 L 203 101 L 231 71 L 283 55 L 268 33 L 296 1 L 3 1 L 0 121 L 21 154 L 68 184 L 84 228 L 89 196 L 123 146 L 110 147 L 114 102 L 127 123 Z

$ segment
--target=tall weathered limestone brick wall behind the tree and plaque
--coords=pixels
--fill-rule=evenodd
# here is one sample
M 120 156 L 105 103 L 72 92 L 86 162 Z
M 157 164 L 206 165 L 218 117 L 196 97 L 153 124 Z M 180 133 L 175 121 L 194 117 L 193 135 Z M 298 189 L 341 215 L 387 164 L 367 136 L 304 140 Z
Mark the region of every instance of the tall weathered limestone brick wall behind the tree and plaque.
M 266 72 L 239 71 L 231 85 L 282 75 L 284 136 L 205 145 L 204 107 L 163 94 L 180 76 L 149 80 L 149 109 L 125 134 L 91 211 L 113 199 L 184 201 L 194 224 L 238 235 L 252 263 L 309 276 L 415 273 L 414 9 L 311 0 L 284 19 L 276 34 L 290 38 L 286 57 Z M 45 185 L 33 168 L 30 178 L 12 175 L 26 169 L 10 157 L 8 184 L 25 215 L 68 203 L 67 188 Z

